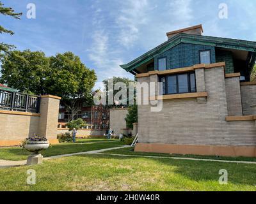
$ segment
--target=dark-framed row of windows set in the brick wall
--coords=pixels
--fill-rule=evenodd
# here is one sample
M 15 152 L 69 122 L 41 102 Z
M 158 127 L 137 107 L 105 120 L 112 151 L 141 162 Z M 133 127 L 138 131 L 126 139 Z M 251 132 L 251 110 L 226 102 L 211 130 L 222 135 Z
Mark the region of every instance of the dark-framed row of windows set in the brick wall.
M 196 92 L 196 79 L 194 72 L 179 75 L 167 75 L 161 77 L 160 82 L 163 83 L 163 95 Z

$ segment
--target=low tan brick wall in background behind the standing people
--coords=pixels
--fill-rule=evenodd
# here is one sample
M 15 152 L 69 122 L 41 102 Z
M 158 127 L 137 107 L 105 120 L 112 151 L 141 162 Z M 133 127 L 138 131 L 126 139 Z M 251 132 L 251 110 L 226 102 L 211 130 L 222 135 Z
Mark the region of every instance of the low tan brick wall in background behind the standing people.
M 78 129 L 77 137 L 102 137 L 106 134 L 107 129 Z M 58 134 L 67 133 L 68 128 L 58 128 Z

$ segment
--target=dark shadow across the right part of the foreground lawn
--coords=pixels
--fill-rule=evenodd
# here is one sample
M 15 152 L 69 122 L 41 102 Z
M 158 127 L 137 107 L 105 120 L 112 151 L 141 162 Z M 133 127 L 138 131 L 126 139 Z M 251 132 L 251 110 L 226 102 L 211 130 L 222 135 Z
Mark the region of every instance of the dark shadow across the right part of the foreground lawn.
M 79 155 L 74 156 L 77 158 L 82 157 L 92 157 L 93 159 L 117 159 L 120 160 L 121 164 L 125 166 L 125 160 L 131 160 L 131 164 L 136 161 L 136 164 L 140 161 L 148 161 L 148 168 L 143 166 L 148 173 L 154 173 L 157 169 L 152 169 L 150 166 L 154 162 L 159 164 L 159 170 L 163 171 L 164 182 L 172 184 L 172 179 L 168 179 L 168 175 L 172 170 L 173 173 L 177 173 L 194 182 L 215 182 L 216 187 L 224 187 L 225 185 L 218 184 L 220 178 L 219 171 L 227 170 L 228 172 L 228 182 L 234 185 L 248 185 L 256 186 L 256 164 L 238 164 L 238 163 L 219 163 L 215 161 L 188 161 L 188 160 L 176 160 L 170 158 L 149 158 L 149 157 L 122 157 L 122 156 L 108 156 L 108 155 Z M 129 166 L 131 166 L 129 164 Z M 140 171 L 140 164 L 134 164 L 134 169 Z M 144 164 L 143 164 L 144 165 Z M 170 168 L 171 167 L 171 168 Z M 99 166 L 100 168 L 100 166 Z M 137 170 L 138 168 L 138 170 Z M 151 172 L 153 171 L 153 172 Z M 238 189 L 237 189 L 238 190 Z M 255 187 L 256 190 L 256 187 Z

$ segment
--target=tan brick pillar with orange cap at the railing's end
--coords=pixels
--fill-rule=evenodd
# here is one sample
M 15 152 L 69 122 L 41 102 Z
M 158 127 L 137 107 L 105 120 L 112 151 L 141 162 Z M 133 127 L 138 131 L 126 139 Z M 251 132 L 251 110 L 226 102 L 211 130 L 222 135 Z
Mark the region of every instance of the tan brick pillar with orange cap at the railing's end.
M 60 99 L 58 96 L 41 96 L 39 135 L 45 136 L 51 143 L 58 143 L 57 127 Z

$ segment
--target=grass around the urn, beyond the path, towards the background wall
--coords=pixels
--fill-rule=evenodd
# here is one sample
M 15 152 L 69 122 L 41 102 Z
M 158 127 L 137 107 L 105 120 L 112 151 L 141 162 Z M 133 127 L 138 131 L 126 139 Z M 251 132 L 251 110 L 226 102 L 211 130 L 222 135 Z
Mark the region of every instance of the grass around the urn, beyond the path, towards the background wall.
M 108 142 L 108 140 L 98 139 L 97 142 L 95 142 L 95 139 L 78 139 L 77 143 L 60 143 L 58 145 L 52 145 L 51 148 L 42 151 L 41 154 L 44 157 L 49 157 L 60 154 L 70 154 L 76 152 L 86 152 L 90 150 L 118 147 L 118 145 L 124 145 L 124 143 L 120 142 L 119 140 L 115 142 Z M 25 149 L 21 149 L 20 147 L 0 148 L 0 159 L 13 161 L 25 160 L 27 159 L 29 154 L 31 153 Z

